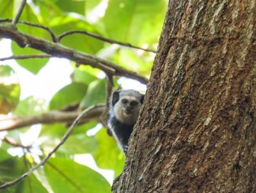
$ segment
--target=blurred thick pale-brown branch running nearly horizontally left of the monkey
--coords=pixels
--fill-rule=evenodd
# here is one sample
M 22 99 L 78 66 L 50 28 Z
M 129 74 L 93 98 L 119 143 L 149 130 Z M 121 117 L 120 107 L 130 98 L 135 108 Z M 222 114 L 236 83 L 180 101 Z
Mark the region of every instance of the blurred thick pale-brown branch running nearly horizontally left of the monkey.
M 99 119 L 102 112 L 104 112 L 105 106 L 104 105 L 97 105 L 93 108 L 92 111 L 86 113 L 83 116 L 83 123 L 86 123 L 93 118 Z M 13 116 L 8 119 L 0 120 L 0 132 L 4 130 L 13 130 L 16 128 L 26 127 L 30 125 L 34 125 L 37 123 L 60 123 L 60 122 L 67 122 L 72 123 L 79 115 L 79 112 L 62 112 L 62 111 L 51 111 L 45 114 L 40 114 L 36 116 L 28 116 L 28 117 L 19 117 Z

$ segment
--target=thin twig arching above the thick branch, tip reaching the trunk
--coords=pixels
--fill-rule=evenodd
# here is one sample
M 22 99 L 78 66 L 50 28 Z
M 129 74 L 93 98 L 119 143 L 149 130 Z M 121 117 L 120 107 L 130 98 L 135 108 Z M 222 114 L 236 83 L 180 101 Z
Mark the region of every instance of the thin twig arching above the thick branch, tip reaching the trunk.
M 118 41 L 116 41 L 116 40 L 111 40 L 111 39 L 109 39 L 109 38 L 105 38 L 105 37 L 103 37 L 103 36 L 95 35 L 95 34 L 90 33 L 90 32 L 88 32 L 88 31 L 82 31 L 82 30 L 67 31 L 67 32 L 65 32 L 65 33 L 62 33 L 61 35 L 58 36 L 58 41 L 60 42 L 60 40 L 61 40 L 62 38 L 64 38 L 65 36 L 72 35 L 72 34 L 74 34 L 74 33 L 80 33 L 80 34 L 92 36 L 93 38 L 96 38 L 96 39 L 98 39 L 98 40 L 102 40 L 102 41 L 108 42 L 108 43 L 115 43 L 115 44 L 118 44 L 118 45 L 124 45 L 125 47 L 131 47 L 131 48 L 134 48 L 134 49 L 140 49 L 140 50 L 144 50 L 144 51 L 147 51 L 147 52 L 156 53 L 155 50 L 143 49 L 143 48 L 141 48 L 141 47 L 131 45 L 131 43 L 118 42 Z

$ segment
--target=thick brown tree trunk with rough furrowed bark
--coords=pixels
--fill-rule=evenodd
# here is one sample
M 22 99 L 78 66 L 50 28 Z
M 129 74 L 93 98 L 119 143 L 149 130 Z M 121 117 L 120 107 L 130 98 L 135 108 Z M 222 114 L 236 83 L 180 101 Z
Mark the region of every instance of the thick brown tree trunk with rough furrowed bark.
M 113 192 L 256 192 L 256 7 L 171 0 Z

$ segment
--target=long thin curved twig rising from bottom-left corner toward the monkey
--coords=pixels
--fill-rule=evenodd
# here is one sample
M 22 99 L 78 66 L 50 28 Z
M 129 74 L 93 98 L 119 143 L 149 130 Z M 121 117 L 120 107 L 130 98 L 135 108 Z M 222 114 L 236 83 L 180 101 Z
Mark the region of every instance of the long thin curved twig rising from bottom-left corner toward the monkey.
M 22 174 L 22 176 L 20 176 L 19 178 L 16 178 L 15 180 L 12 181 L 8 181 L 6 183 L 4 183 L 3 185 L 0 186 L 0 190 L 6 189 L 12 185 L 15 185 L 16 183 L 18 183 L 19 181 L 23 180 L 24 178 L 26 178 L 27 176 L 29 176 L 31 173 L 33 173 L 33 171 L 35 171 L 36 169 L 38 169 L 38 167 L 43 166 L 45 164 L 45 162 L 47 162 L 47 160 L 49 160 L 49 158 L 51 157 L 51 155 L 53 153 L 55 153 L 60 146 L 65 143 L 65 141 L 68 139 L 68 136 L 72 133 L 72 131 L 74 130 L 74 128 L 76 127 L 76 125 L 79 123 L 79 121 L 81 120 L 81 118 L 83 118 L 83 116 L 85 114 L 87 114 L 88 112 L 92 111 L 93 109 L 95 109 L 97 107 L 97 105 L 93 105 L 91 107 L 89 107 L 88 109 L 85 109 L 83 112 L 81 112 L 81 114 L 79 114 L 79 116 L 77 116 L 76 120 L 72 123 L 72 125 L 68 128 L 67 132 L 65 133 L 65 135 L 63 136 L 63 138 L 61 139 L 60 143 L 58 143 L 58 145 L 46 156 L 44 157 L 41 162 L 39 164 L 37 164 L 36 166 L 32 167 L 28 172 Z

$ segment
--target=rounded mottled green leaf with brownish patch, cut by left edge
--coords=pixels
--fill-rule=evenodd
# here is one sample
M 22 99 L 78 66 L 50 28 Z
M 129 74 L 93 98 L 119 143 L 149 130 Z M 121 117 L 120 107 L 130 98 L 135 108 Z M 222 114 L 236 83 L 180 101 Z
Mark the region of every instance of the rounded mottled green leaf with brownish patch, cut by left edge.
M 19 102 L 20 84 L 10 66 L 0 66 L 0 77 L 0 114 L 7 114 Z

